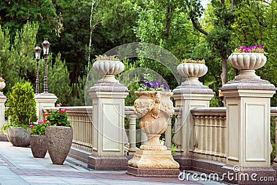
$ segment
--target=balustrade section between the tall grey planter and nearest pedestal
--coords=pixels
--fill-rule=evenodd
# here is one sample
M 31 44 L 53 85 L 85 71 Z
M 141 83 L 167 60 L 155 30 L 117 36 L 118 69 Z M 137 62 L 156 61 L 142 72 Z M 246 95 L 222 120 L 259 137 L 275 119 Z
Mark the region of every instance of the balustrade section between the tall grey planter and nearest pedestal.
M 62 107 L 64 108 L 64 107 Z M 66 110 L 69 121 L 73 128 L 72 146 L 92 152 L 93 124 L 88 112 L 92 112 L 92 107 L 68 107 Z M 51 108 L 44 108 L 44 113 Z M 52 107 L 52 109 L 54 109 Z

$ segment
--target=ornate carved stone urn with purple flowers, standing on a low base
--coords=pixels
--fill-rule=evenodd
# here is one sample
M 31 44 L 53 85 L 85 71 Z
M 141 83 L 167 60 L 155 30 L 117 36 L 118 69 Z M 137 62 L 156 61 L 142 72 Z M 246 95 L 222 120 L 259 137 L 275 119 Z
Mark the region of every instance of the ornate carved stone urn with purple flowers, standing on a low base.
M 174 114 L 170 91 L 135 91 L 134 113 L 141 117 L 139 126 L 148 136 L 148 142 L 141 150 L 167 150 L 159 143 L 159 137 L 168 127 L 170 116 Z

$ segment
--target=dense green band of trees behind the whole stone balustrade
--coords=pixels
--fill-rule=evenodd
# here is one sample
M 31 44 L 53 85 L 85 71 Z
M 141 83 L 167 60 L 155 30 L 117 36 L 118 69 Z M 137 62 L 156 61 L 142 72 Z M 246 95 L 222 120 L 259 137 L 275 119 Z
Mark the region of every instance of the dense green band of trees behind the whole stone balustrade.
M 0 2 L 0 75 L 7 81 L 4 92 L 15 82 L 28 80 L 34 85 L 33 49 L 48 37 L 49 91 L 59 95 L 64 105 L 83 105 L 88 64 L 95 55 L 122 44 L 147 42 L 167 49 L 177 60 L 205 59 L 208 73 L 200 80 L 217 93 L 238 74 L 228 62 L 233 49 L 262 44 L 267 63 L 257 74 L 277 85 L 276 21 L 277 3 L 267 0 L 211 0 L 206 10 L 201 0 L 4 0 Z M 171 88 L 177 86 L 159 62 L 141 57 L 128 62 L 132 68 L 156 71 Z M 54 83 L 59 82 L 58 91 Z M 274 96 L 271 104 L 276 103 Z

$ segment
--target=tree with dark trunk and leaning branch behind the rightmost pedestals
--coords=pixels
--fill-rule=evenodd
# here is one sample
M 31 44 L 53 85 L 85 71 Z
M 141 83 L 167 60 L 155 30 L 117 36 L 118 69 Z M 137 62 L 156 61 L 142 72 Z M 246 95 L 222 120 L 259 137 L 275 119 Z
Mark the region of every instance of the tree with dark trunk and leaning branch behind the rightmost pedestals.
M 201 1 L 186 1 L 193 26 L 200 33 L 207 36 L 206 39 L 209 47 L 213 49 L 222 60 L 221 79 L 222 85 L 224 85 L 228 80 L 227 57 L 230 53 L 232 25 L 235 18 L 235 14 L 233 13 L 234 1 L 231 0 L 231 3 L 227 3 L 224 0 L 212 0 L 211 4 L 213 6 L 211 15 L 214 18 L 211 19 L 213 27 L 208 33 L 199 26 L 199 17 L 202 16 L 204 11 Z

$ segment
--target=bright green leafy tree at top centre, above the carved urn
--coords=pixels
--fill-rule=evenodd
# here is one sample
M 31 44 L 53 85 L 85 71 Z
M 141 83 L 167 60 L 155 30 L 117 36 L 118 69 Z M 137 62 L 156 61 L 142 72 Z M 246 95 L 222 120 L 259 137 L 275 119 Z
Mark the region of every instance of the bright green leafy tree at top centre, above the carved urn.
M 193 31 L 193 26 L 189 24 L 182 1 L 141 1 L 141 5 L 138 4 L 135 8 L 139 13 L 139 19 L 136 21 L 138 26 L 134 27 L 134 32 L 141 42 L 161 46 L 179 59 L 191 55 L 197 32 Z M 166 60 L 160 51 L 152 51 L 151 48 L 147 50 L 148 55 L 157 55 L 155 58 Z M 165 62 L 175 64 L 176 67 L 178 63 L 178 61 Z M 172 87 L 177 86 L 170 71 L 161 63 L 140 58 L 139 64 L 141 67 L 156 71 L 168 81 L 175 82 Z

